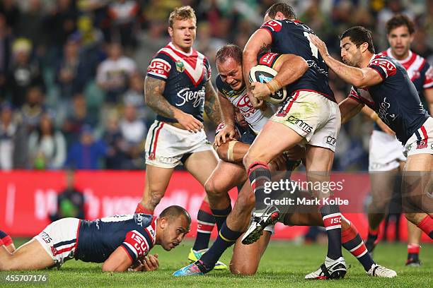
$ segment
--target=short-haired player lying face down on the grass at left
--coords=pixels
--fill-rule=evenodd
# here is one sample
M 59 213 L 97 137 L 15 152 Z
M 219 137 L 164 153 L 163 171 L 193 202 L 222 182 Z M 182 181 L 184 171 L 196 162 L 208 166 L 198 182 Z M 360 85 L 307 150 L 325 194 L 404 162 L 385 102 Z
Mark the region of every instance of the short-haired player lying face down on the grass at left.
M 176 205 L 159 217 L 138 213 L 94 221 L 64 218 L 13 253 L 0 246 L 0 270 L 59 268 L 72 258 L 103 263 L 103 271 L 156 270 L 158 255 L 146 257 L 151 248 L 175 248 L 190 231 L 190 224 L 187 210 Z

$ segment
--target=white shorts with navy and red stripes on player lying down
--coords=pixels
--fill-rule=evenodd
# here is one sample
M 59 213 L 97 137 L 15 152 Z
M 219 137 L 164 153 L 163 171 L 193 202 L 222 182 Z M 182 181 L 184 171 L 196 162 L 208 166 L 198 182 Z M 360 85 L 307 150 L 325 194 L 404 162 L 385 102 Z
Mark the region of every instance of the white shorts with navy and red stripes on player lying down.
M 45 248 L 57 267 L 74 258 L 80 221 L 77 218 L 54 221 L 33 237 Z

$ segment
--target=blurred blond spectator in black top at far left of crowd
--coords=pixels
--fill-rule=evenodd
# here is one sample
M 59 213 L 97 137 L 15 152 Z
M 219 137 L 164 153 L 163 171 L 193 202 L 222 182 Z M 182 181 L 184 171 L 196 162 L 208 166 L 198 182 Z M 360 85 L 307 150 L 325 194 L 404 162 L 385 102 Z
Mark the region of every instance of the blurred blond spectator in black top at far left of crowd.
M 21 107 L 30 86 L 38 85 L 45 90 L 42 71 L 37 61 L 31 58 L 32 44 L 19 38 L 12 45 L 13 59 L 7 76 L 7 89 L 14 107 Z

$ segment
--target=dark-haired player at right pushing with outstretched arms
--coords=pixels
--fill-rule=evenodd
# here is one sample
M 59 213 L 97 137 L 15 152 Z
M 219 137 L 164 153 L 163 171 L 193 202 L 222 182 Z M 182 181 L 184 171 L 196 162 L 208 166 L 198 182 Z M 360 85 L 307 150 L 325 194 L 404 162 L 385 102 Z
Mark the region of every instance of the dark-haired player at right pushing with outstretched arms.
M 342 33 L 342 60 L 333 59 L 326 44 L 310 35 L 326 64 L 353 85 L 349 97 L 340 103 L 342 123 L 367 105 L 396 132 L 408 159 L 402 179 L 405 217 L 433 239 L 433 119 L 422 107 L 415 85 L 398 61 L 374 54 L 371 32 L 361 26 Z

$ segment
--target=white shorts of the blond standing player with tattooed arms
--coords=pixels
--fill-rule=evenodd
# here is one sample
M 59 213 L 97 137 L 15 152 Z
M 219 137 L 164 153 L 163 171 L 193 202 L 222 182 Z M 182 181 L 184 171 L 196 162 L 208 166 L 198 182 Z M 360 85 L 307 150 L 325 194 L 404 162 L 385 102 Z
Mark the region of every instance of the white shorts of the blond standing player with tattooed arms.
M 191 133 L 156 120 L 146 137 L 146 164 L 174 168 L 181 164 L 185 155 L 207 150 L 214 152 L 203 129 Z

